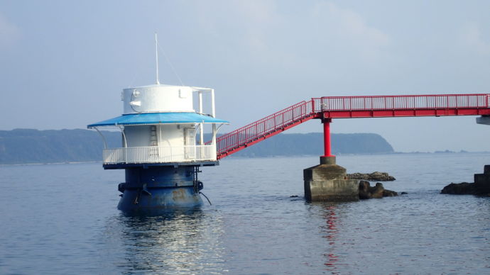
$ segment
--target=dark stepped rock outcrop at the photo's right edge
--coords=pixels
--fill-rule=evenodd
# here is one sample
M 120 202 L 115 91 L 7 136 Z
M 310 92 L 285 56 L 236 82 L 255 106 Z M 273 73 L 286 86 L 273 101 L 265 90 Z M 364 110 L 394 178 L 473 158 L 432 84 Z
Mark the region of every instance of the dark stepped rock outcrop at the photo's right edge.
M 485 165 L 483 174 L 474 174 L 474 183 L 451 183 L 445 186 L 441 193 L 490 196 L 490 165 Z

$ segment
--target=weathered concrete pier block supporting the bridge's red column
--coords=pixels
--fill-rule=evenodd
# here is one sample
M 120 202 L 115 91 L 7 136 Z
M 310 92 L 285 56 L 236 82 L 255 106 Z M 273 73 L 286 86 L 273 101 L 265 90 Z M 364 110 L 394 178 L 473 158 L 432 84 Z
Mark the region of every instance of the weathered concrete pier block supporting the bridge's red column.
M 359 180 L 347 179 L 347 171 L 335 157 L 320 157 L 320 165 L 303 170 L 307 201 L 359 201 Z

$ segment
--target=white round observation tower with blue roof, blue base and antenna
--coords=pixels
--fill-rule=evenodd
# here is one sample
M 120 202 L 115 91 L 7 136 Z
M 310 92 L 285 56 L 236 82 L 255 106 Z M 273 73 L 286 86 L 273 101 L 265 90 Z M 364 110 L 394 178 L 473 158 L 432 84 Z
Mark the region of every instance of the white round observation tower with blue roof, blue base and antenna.
M 104 140 L 104 169 L 126 171 L 121 211 L 200 206 L 200 167 L 219 164 L 216 134 L 228 121 L 215 118 L 214 89 L 160 84 L 158 50 L 156 56 L 156 84 L 124 89 L 122 116 L 87 125 Z M 209 126 L 212 140 L 205 143 Z M 101 127 L 119 128 L 121 147 L 108 148 Z

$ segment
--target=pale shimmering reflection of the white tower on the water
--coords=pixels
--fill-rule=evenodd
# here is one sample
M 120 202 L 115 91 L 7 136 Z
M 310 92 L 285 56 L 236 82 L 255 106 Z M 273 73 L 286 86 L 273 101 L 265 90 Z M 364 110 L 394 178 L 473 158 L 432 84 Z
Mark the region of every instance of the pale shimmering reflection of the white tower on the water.
M 108 221 L 109 262 L 123 274 L 221 274 L 222 219 L 200 209 L 120 215 Z

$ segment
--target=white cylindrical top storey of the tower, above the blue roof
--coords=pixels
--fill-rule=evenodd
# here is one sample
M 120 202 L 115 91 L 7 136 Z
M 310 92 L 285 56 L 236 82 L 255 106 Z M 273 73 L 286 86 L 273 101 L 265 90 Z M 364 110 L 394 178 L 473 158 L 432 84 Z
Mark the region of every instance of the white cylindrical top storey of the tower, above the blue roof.
M 156 84 L 124 89 L 124 114 L 195 112 L 192 108 L 192 88 Z

